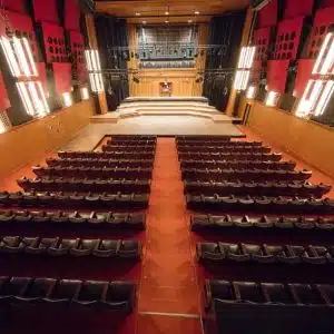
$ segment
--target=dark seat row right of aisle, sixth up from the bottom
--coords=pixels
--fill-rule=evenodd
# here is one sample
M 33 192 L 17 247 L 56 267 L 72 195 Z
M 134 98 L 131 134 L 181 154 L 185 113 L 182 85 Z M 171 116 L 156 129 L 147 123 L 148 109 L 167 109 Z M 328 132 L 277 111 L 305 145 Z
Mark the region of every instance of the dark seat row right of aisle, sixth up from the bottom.
M 196 169 L 181 170 L 183 179 L 188 180 L 306 180 L 312 176 L 311 170 L 273 170 L 273 169 Z

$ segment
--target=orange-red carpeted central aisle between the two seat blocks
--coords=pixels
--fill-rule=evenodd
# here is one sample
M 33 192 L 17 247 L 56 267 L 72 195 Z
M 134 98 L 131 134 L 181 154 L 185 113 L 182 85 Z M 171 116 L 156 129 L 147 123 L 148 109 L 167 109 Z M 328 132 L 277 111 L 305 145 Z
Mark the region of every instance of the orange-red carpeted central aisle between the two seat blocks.
M 174 138 L 159 138 L 139 286 L 137 334 L 200 334 L 199 289 Z

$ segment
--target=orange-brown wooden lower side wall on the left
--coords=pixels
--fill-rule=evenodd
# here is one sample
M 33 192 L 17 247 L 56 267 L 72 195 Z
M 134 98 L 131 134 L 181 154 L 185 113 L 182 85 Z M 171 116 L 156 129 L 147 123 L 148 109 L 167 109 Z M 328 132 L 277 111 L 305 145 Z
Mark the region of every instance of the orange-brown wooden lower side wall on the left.
M 0 177 L 59 148 L 89 124 L 94 100 L 75 104 L 42 119 L 32 120 L 0 135 Z

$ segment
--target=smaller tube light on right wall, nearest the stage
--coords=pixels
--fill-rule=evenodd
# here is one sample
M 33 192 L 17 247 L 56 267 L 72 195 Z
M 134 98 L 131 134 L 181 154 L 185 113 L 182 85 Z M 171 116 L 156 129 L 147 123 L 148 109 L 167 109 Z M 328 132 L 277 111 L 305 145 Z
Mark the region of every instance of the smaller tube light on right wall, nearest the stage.
M 256 47 L 242 48 L 237 71 L 234 79 L 234 89 L 246 90 L 250 78 Z

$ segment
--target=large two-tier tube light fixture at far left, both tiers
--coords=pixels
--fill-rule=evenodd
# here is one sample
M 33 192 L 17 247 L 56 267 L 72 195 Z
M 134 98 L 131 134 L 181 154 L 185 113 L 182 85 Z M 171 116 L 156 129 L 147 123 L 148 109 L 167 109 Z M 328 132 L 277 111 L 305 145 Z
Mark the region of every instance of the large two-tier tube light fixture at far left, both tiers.
M 26 38 L 0 37 L 7 63 L 11 75 L 17 78 L 17 89 L 31 117 L 43 117 L 50 112 L 42 85 L 37 80 L 38 70 L 33 60 L 30 45 Z

